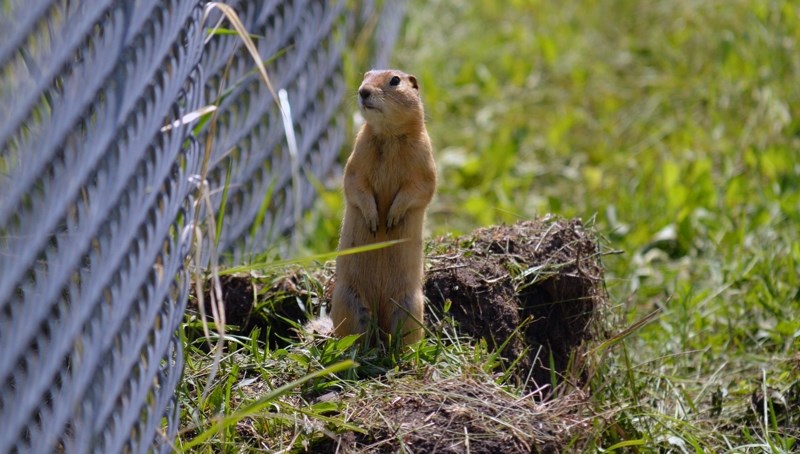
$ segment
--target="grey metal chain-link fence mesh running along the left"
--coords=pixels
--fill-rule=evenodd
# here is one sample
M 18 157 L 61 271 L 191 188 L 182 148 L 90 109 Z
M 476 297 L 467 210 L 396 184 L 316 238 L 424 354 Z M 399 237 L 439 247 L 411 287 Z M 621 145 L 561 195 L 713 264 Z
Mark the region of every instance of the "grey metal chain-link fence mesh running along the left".
M 3 2 L 0 453 L 170 451 L 206 144 L 232 262 L 292 234 L 310 180 L 336 166 L 353 11 L 226 3 L 286 91 L 296 156 L 240 39 L 208 33 L 206 2 Z M 177 121 L 209 104 L 216 129 Z

